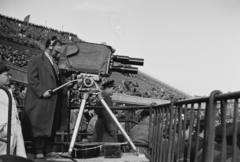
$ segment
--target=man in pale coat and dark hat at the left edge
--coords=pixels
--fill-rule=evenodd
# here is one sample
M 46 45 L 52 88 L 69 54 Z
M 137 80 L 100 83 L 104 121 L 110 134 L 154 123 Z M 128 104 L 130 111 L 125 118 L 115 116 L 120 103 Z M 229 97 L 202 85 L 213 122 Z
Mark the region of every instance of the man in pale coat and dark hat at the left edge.
M 7 87 L 9 84 L 9 69 L 0 62 L 0 85 Z M 11 144 L 10 153 L 26 158 L 26 151 L 22 135 L 21 123 L 18 117 L 18 111 L 12 92 L 12 121 L 11 121 Z M 5 91 L 0 89 L 0 138 L 7 139 L 7 121 L 8 121 L 8 96 Z M 6 143 L 0 142 L 0 155 L 6 154 Z

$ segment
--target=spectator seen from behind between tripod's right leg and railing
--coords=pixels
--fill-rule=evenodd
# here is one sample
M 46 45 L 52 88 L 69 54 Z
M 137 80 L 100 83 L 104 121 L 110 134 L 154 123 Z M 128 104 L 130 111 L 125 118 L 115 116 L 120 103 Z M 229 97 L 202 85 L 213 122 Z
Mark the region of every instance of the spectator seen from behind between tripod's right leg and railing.
M 142 110 L 140 113 L 140 122 L 130 130 L 130 138 L 136 144 L 139 152 L 144 154 L 147 158 L 149 158 L 149 115 L 149 109 Z

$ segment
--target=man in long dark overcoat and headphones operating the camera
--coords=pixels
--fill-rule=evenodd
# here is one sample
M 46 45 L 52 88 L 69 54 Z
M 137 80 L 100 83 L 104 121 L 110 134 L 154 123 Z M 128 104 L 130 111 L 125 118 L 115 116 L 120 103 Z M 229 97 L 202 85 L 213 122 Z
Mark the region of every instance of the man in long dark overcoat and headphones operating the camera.
M 31 129 L 38 159 L 57 155 L 52 152 L 56 130 L 60 127 L 67 128 L 66 90 L 51 93 L 52 89 L 62 85 L 65 80 L 55 63 L 55 58 L 61 51 L 61 42 L 53 37 L 47 40 L 45 48 L 44 53 L 31 57 L 28 64 L 28 91 L 23 115 L 23 121 L 30 124 L 28 129 Z M 62 114 L 65 115 L 64 118 Z

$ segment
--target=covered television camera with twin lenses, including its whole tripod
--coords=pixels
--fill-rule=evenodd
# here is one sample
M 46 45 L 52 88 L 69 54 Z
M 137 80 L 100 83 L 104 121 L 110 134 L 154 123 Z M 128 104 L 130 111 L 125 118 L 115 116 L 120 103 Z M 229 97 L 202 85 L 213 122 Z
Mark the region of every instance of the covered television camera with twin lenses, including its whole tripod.
M 79 114 L 70 142 L 68 156 L 72 156 L 83 110 L 88 97 L 91 95 L 96 96 L 96 98 L 102 103 L 119 130 L 124 135 L 125 139 L 131 145 L 132 149 L 135 151 L 135 153 L 140 155 L 130 137 L 122 128 L 121 124 L 118 122 L 117 118 L 101 96 L 101 89 L 98 84 L 100 82 L 100 76 L 109 77 L 114 71 L 120 73 L 137 74 L 138 68 L 132 67 L 132 65 L 143 66 L 144 60 L 141 58 L 113 55 L 115 49 L 113 49 L 111 46 L 87 42 L 64 44 L 61 51 L 58 67 L 60 69 L 78 71 L 81 73 L 77 76 L 77 79 L 52 90 L 52 93 L 54 93 L 58 89 L 72 82 L 78 82 L 80 84 L 78 91 L 82 93 L 82 101 L 79 107 Z

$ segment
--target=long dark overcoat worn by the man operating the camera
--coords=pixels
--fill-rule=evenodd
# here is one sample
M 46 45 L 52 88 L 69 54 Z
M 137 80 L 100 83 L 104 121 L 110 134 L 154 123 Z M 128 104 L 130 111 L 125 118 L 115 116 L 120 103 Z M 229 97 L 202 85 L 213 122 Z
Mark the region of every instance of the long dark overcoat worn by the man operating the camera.
M 31 129 L 30 133 L 33 137 L 49 137 L 52 133 L 55 113 L 58 129 L 66 129 L 68 123 L 66 89 L 61 89 L 50 98 L 43 98 L 44 92 L 61 85 L 64 77 L 60 73 L 59 80 L 57 79 L 53 66 L 44 53 L 30 59 L 27 75 L 28 90 L 22 119 L 25 130 Z

